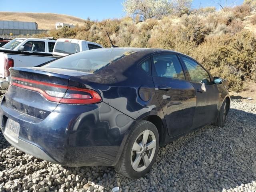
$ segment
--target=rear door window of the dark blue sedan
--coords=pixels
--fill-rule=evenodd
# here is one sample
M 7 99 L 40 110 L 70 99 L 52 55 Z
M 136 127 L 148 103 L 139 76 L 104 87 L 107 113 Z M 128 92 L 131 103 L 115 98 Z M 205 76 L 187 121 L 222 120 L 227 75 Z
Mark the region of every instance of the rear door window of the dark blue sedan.
M 153 59 L 157 76 L 185 80 L 184 72 L 176 55 L 158 55 Z

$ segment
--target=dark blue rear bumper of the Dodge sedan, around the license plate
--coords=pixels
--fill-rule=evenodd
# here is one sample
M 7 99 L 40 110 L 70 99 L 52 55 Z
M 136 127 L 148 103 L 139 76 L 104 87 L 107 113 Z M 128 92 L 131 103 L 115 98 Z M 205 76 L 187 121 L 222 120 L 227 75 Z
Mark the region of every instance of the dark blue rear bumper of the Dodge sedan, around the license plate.
M 20 124 L 18 142 L 6 133 L 8 118 Z M 134 123 L 104 102 L 88 107 L 59 104 L 44 120 L 22 114 L 5 101 L 0 107 L 0 127 L 10 144 L 40 159 L 70 167 L 114 166 Z

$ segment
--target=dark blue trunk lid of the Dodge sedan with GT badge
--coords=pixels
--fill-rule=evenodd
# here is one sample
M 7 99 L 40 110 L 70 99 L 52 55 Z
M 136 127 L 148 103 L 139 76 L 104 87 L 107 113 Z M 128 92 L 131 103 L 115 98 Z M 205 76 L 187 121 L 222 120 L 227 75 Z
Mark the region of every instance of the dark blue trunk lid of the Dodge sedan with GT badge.
M 66 93 L 71 76 L 88 73 L 59 68 L 10 68 L 11 82 L 5 100 L 8 107 L 45 119 Z

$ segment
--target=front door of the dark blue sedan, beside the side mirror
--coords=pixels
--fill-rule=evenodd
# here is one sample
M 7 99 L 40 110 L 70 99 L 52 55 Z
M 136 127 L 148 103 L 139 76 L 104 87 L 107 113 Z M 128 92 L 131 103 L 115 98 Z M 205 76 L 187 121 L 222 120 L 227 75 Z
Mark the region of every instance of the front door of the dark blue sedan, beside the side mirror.
M 218 115 L 219 104 L 216 84 L 212 83 L 209 73 L 196 61 L 186 56 L 180 58 L 196 90 L 196 110 L 192 129 L 214 122 Z

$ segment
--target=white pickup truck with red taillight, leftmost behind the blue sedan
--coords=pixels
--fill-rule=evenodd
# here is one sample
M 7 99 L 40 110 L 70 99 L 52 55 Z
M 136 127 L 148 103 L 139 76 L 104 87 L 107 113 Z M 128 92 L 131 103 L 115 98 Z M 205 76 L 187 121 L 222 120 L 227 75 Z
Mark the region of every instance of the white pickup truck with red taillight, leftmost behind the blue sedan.
M 34 67 L 54 60 L 52 55 L 56 40 L 16 38 L 0 48 L 0 87 L 10 82 L 10 67 Z

